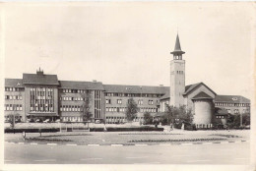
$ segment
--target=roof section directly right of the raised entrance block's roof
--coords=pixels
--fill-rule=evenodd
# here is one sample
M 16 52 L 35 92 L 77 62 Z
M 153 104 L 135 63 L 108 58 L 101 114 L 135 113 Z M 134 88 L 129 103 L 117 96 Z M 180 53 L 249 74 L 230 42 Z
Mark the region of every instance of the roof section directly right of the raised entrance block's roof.
M 72 82 L 59 81 L 60 88 L 74 88 L 74 89 L 98 89 L 103 90 L 101 82 Z

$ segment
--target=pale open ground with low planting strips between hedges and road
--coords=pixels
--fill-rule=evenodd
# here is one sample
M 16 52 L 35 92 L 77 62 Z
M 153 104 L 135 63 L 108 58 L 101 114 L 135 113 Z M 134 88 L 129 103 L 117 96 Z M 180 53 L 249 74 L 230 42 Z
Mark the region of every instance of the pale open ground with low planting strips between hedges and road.
M 5 134 L 6 142 L 56 142 L 77 144 L 133 144 L 133 143 L 178 143 L 178 142 L 235 142 L 249 141 L 249 130 L 237 131 L 181 131 L 170 132 L 64 132 L 64 133 L 27 133 Z

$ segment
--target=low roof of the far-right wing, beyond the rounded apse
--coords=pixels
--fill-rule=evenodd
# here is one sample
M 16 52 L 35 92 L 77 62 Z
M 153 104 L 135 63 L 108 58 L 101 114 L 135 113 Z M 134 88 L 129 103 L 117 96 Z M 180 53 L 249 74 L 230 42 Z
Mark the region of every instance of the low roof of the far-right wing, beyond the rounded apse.
M 241 95 L 216 95 L 215 102 L 250 103 L 250 99 Z

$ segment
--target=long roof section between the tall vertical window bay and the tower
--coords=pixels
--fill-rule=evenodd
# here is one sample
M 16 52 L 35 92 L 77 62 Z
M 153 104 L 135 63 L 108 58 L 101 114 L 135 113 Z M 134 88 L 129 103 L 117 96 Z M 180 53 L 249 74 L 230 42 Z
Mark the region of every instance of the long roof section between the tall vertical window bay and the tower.
M 106 92 L 165 94 L 169 86 L 103 85 Z

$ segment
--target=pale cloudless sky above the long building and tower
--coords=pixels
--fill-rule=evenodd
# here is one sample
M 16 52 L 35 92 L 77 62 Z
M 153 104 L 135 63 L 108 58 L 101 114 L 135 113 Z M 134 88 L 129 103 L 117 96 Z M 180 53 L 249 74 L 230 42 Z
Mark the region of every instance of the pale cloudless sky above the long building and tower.
M 84 2 L 7 6 L 5 78 L 170 85 L 178 32 L 186 85 L 250 97 L 255 21 L 247 2 Z M 254 29 L 253 29 L 254 28 Z

